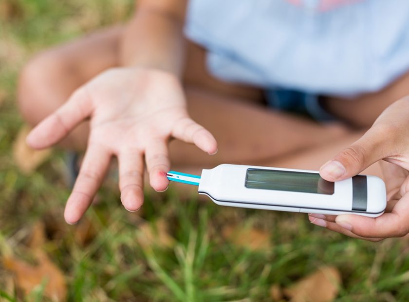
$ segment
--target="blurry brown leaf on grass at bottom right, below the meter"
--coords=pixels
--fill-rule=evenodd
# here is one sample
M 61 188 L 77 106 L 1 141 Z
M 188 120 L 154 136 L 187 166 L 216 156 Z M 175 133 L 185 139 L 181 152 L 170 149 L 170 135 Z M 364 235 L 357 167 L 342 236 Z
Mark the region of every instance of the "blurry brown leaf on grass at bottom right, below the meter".
M 338 295 L 341 275 L 333 266 L 320 267 L 316 272 L 302 278 L 283 290 L 292 302 L 329 302 Z

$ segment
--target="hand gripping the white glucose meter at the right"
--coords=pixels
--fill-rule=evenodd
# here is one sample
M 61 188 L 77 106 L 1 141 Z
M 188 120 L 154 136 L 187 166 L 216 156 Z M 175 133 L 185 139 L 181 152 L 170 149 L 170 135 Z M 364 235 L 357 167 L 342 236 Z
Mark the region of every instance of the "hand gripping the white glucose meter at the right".
M 402 237 L 409 233 L 409 97 L 390 105 L 372 128 L 320 169 L 329 181 L 352 177 L 374 162 L 381 161 L 388 206 L 377 218 L 358 215 L 322 217 L 310 221 L 336 232 L 371 241 Z

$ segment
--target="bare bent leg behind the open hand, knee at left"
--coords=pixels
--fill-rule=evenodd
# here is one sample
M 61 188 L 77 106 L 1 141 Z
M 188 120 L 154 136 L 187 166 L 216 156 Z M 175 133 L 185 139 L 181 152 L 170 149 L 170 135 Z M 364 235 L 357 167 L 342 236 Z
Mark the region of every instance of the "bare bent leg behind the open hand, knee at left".
M 19 85 L 19 104 L 26 120 L 37 124 L 81 84 L 105 69 L 117 66 L 120 36 L 119 27 L 105 30 L 53 48 L 31 61 L 23 71 Z M 204 66 L 203 61 L 197 64 Z M 208 156 L 195 147 L 175 143 L 171 154 L 175 163 L 256 163 L 333 141 L 345 133 L 336 127 L 324 127 L 310 120 L 275 113 L 251 100 L 246 103 L 245 100 L 253 94 L 245 87 L 216 79 L 201 83 L 203 77 L 200 75 L 192 80 L 193 65 L 194 61 L 187 64 L 185 77 L 189 111 L 215 135 L 220 152 L 217 156 Z M 83 123 L 65 140 L 64 146 L 84 149 L 87 135 L 88 126 Z

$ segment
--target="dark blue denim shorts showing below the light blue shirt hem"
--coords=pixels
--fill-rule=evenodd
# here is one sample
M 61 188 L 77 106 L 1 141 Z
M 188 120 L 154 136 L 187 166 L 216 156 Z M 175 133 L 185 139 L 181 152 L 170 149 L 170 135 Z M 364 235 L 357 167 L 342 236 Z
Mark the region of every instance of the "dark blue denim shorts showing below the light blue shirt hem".
M 308 115 L 318 122 L 330 122 L 336 118 L 322 108 L 319 95 L 288 89 L 265 91 L 267 105 L 279 111 Z

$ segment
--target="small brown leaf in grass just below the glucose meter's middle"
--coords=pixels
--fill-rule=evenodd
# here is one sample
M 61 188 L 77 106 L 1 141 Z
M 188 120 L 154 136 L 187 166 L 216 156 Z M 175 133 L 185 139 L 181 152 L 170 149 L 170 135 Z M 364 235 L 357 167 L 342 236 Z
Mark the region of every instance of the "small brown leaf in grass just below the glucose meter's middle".
M 266 250 L 271 248 L 269 234 L 257 228 L 248 227 L 223 227 L 223 236 L 235 245 L 250 250 Z

